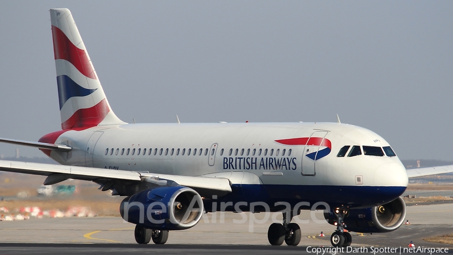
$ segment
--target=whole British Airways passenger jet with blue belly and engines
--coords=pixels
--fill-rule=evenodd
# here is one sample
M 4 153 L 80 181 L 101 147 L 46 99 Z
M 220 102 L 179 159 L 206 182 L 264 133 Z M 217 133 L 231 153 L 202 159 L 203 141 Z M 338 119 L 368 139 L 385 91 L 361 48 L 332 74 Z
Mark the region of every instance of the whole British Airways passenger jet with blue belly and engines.
M 272 245 L 298 245 L 300 210 L 321 205 L 337 227 L 335 247 L 349 231 L 398 229 L 408 177 L 452 172 L 453 166 L 406 171 L 390 144 L 363 127 L 337 122 L 133 123 L 113 112 L 68 9 L 50 9 L 61 130 L 38 148 L 61 165 L 0 160 L 0 170 L 100 184 L 124 196 L 120 214 L 135 224 L 137 243 L 164 244 L 169 230 L 188 229 L 204 213 L 281 212 L 269 226 Z

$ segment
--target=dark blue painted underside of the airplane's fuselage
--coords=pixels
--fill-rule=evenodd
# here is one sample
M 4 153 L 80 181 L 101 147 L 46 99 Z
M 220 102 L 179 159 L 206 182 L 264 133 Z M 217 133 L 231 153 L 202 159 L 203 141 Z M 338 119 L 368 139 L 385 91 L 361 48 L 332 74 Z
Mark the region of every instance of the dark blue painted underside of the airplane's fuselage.
M 315 203 L 325 202 L 331 208 L 347 206 L 366 208 L 389 203 L 406 190 L 405 186 L 332 186 L 332 185 L 279 185 L 279 184 L 233 184 L 233 192 L 218 199 L 206 198 L 205 209 L 212 211 L 265 211 L 259 202 L 269 206 L 271 212 L 285 209 L 275 203 L 289 203 L 291 208 L 300 202 L 308 202 L 300 209 L 311 209 Z M 351 201 L 353 201 L 351 203 Z M 230 203 L 229 203 L 230 202 Z M 242 204 L 239 204 L 241 203 Z M 258 202 L 258 203 L 257 203 Z M 213 204 L 214 203 L 214 204 Z M 229 204 L 228 204 L 229 203 Z M 238 206 L 239 204 L 239 206 Z M 222 207 L 223 205 L 223 207 Z M 297 206 L 299 206 L 297 205 Z M 216 209 L 213 210 L 213 207 Z M 240 209 L 240 210 L 238 210 Z M 322 207 L 318 209 L 323 209 Z

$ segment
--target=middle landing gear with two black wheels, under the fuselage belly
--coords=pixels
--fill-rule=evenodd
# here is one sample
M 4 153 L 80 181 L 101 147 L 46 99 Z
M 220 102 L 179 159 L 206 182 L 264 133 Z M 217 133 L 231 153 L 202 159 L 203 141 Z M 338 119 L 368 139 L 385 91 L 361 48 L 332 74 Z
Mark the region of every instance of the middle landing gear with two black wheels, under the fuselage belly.
M 281 245 L 283 240 L 287 245 L 295 246 L 300 242 L 300 227 L 297 223 L 290 223 L 292 220 L 292 211 L 288 213 L 290 217 L 286 217 L 287 213 L 283 212 L 283 225 L 280 223 L 272 223 L 267 231 L 267 239 L 272 245 Z

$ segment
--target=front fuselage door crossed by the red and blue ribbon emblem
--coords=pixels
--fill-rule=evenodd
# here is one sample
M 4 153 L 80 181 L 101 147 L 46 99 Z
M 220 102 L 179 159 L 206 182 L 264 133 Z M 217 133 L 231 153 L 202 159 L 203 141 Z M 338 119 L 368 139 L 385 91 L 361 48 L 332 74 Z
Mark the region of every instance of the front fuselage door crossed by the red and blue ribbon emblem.
M 305 145 L 304 152 L 302 153 L 302 175 L 315 176 L 316 175 L 316 160 L 317 154 L 323 141 L 327 135 L 327 131 L 315 131 Z

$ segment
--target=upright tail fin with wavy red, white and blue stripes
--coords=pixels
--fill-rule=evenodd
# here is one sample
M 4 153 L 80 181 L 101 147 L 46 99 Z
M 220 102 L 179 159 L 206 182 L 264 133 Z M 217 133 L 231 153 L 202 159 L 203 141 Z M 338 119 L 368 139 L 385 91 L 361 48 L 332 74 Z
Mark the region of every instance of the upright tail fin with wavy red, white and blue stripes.
M 50 9 L 61 129 L 121 124 L 110 108 L 68 9 Z

